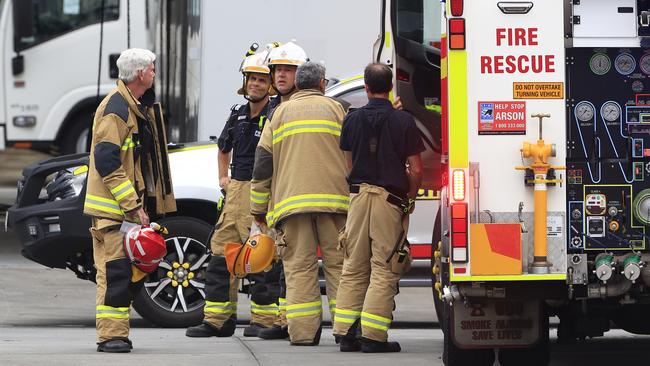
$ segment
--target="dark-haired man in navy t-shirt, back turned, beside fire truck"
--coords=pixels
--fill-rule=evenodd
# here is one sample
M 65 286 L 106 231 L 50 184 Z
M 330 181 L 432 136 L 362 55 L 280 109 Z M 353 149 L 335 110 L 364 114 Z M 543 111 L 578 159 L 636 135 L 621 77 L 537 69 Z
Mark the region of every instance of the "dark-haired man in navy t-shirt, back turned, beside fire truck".
M 364 82 L 368 104 L 348 114 L 341 132 L 350 169 L 350 210 L 340 238 L 345 262 L 334 335 L 344 352 L 399 352 L 399 343 L 387 342 L 403 272 L 394 261 L 407 254 L 400 249 L 422 179 L 424 145 L 413 117 L 391 105 L 391 69 L 370 64 Z

